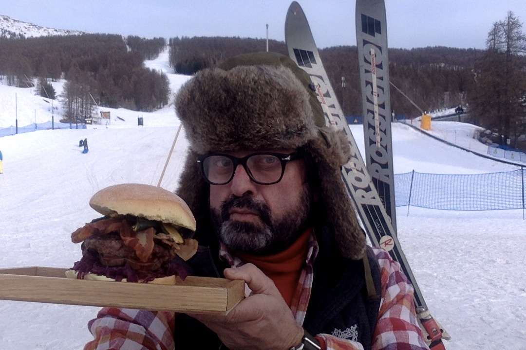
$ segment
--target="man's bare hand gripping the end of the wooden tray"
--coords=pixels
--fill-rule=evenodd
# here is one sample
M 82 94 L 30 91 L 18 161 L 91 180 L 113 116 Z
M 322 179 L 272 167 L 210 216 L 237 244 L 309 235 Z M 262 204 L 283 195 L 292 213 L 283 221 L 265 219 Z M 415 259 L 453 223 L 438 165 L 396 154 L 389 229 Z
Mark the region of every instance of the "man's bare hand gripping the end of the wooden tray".
M 227 315 L 190 315 L 217 333 L 230 349 L 284 350 L 301 342 L 304 330 L 276 285 L 253 264 L 225 269 L 225 277 L 245 280 L 252 293 Z

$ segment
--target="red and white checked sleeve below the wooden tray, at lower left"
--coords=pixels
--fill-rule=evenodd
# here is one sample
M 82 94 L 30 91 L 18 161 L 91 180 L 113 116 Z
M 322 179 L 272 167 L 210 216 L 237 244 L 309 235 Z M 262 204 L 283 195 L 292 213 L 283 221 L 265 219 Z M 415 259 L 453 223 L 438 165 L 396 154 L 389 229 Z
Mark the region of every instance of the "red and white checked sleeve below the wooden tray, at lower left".
M 95 339 L 84 350 L 171 350 L 174 320 L 173 312 L 103 307 L 88 322 Z

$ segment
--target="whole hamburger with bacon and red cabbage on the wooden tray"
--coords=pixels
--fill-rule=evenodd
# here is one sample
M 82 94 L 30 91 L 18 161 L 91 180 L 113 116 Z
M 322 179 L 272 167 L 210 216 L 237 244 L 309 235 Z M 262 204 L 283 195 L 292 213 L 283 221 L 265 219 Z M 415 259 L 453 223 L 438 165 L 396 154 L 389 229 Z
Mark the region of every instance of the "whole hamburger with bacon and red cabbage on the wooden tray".
M 99 190 L 90 207 L 104 215 L 71 235 L 82 259 L 66 277 L 174 284 L 197 251 L 196 220 L 183 199 L 160 187 L 121 184 Z

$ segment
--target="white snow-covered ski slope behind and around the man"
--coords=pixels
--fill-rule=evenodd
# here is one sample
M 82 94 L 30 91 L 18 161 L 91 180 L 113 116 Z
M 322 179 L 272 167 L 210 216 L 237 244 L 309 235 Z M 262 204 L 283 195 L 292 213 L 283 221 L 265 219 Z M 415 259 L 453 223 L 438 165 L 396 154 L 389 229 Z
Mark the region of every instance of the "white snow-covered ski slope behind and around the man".
M 147 65 L 169 73 L 166 57 Z M 173 92 L 188 79 L 169 77 Z M 32 100 L 26 103 L 36 108 Z M 125 122 L 0 137 L 0 268 L 72 266 L 81 254 L 70 233 L 98 215 L 88 206 L 94 192 L 118 183 L 157 183 L 178 126 L 173 106 L 154 113 L 114 112 Z M 138 114 L 144 115 L 144 127 L 137 126 Z M 0 114 L 0 123 L 5 123 L 3 118 Z M 362 145 L 362 126 L 351 130 Z M 89 153 L 81 154 L 78 140 L 85 137 Z M 186 148 L 182 135 L 163 180 L 166 189 L 176 188 Z M 396 173 L 515 169 L 431 140 L 400 123 L 393 124 L 393 151 Z M 526 246 L 526 221 L 521 210 L 411 207 L 407 216 L 407 207 L 400 207 L 397 222 L 428 306 L 453 337 L 448 350 L 526 349 L 526 259 L 520 249 Z M 82 349 L 91 338 L 86 323 L 97 310 L 0 300 L 0 349 Z

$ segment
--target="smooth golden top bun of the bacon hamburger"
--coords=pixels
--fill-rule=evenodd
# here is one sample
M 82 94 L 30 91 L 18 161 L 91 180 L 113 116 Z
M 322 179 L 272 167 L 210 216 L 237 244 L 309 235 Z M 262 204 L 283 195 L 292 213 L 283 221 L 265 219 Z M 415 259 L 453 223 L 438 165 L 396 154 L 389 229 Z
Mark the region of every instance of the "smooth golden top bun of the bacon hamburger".
M 120 184 L 99 190 L 89 206 L 103 215 L 133 215 L 196 229 L 190 208 L 175 193 L 145 184 Z

